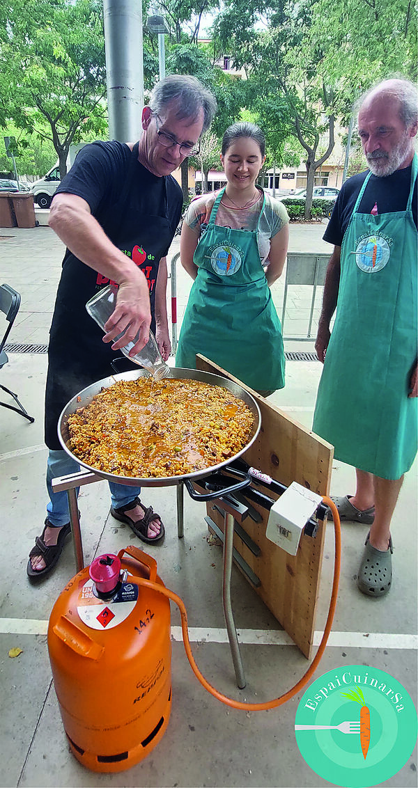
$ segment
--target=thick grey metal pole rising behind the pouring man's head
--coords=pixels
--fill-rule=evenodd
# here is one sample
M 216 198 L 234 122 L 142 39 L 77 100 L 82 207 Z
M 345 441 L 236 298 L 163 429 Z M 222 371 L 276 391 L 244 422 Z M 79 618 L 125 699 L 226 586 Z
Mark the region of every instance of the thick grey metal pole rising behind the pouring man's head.
M 144 106 L 142 3 L 103 0 L 110 139 L 135 142 Z

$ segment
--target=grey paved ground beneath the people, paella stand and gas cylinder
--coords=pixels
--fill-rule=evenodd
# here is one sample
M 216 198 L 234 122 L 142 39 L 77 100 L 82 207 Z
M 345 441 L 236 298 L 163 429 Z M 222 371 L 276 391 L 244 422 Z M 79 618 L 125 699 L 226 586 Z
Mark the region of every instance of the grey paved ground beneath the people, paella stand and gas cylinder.
M 294 251 L 327 251 L 323 225 L 292 226 Z M 0 278 L 22 295 L 21 312 L 9 341 L 47 344 L 50 315 L 62 260 L 62 244 L 46 226 L 33 230 L 0 230 Z M 176 241 L 170 259 L 177 251 Z M 184 307 L 189 283 L 178 270 L 177 297 Z M 274 298 L 281 314 L 281 288 Z M 286 319 L 308 320 L 310 288 L 289 298 Z M 285 332 L 286 333 L 286 332 Z M 287 349 L 312 351 L 312 342 L 286 343 Z M 42 530 L 46 492 L 43 444 L 43 388 L 47 356 L 11 353 L 2 369 L 2 383 L 19 392 L 35 416 L 29 424 L 0 407 L 0 491 L 2 500 L 2 583 L 0 584 L 0 786 L 327 786 L 305 764 L 297 749 L 293 726 L 301 692 L 278 710 L 237 712 L 219 704 L 196 682 L 181 642 L 173 642 L 173 711 L 162 742 L 142 763 L 116 775 L 86 771 L 69 753 L 51 684 L 47 655 L 47 620 L 54 600 L 74 574 L 74 557 L 65 548 L 54 574 L 32 587 L 26 577 L 28 551 Z M 310 428 L 319 362 L 288 362 L 286 388 L 273 402 Z M 3 394 L 4 392 L 2 392 Z M 6 394 L 2 396 L 6 400 Z M 348 425 L 349 429 L 349 425 Z M 367 527 L 343 528 L 341 583 L 332 640 L 316 676 L 350 664 L 379 668 L 397 678 L 416 701 L 416 465 L 405 480 L 394 517 L 394 587 L 384 599 L 369 600 L 356 589 L 356 571 Z M 334 463 L 331 492 L 353 492 L 353 470 Z M 102 552 L 129 544 L 132 534 L 109 515 L 105 481 L 80 493 L 86 562 Z M 252 634 L 242 653 L 248 686 L 237 690 L 222 614 L 222 556 L 206 540 L 204 507 L 185 501 L 185 538 L 177 540 L 174 488 L 147 488 L 144 500 L 161 511 L 166 541 L 148 552 L 159 562 L 166 585 L 185 600 L 189 623 L 200 628 L 193 650 L 204 675 L 226 694 L 248 701 L 275 697 L 289 689 L 307 663 L 263 606 L 241 574 L 233 571 L 233 607 L 238 631 Z M 333 530 L 327 528 L 323 573 L 316 621 L 323 630 L 332 574 Z M 172 622 L 179 618 L 173 610 Z M 257 645 L 259 630 L 267 642 Z M 175 631 L 175 630 L 174 630 Z M 270 639 L 269 639 L 270 638 Z M 9 649 L 23 652 L 16 659 Z M 112 684 L 103 688 L 112 702 Z M 342 735 L 342 734 L 341 734 Z M 385 786 L 416 786 L 416 750 Z

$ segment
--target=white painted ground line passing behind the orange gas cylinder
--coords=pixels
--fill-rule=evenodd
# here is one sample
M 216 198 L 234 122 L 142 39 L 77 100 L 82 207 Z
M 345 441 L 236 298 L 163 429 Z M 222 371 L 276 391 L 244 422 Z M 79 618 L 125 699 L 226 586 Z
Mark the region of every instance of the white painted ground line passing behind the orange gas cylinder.
M 44 635 L 48 622 L 37 619 L 0 619 L 0 633 Z M 244 645 L 294 645 L 286 632 L 271 630 L 237 630 L 238 640 Z M 181 626 L 171 627 L 171 637 L 181 641 Z M 192 643 L 227 643 L 226 629 L 190 626 L 188 637 Z M 323 632 L 315 632 L 314 645 L 319 645 Z M 418 636 L 385 632 L 331 632 L 328 645 L 345 649 L 418 649 Z

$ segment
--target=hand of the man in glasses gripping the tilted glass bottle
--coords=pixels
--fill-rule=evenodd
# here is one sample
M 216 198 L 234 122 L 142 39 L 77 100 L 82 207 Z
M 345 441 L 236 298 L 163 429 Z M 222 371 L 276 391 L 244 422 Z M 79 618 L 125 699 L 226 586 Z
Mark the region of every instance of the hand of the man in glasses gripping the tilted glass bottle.
M 112 344 L 113 350 L 124 348 L 139 334 L 129 355 L 139 353 L 147 344 L 151 325 L 151 307 L 147 280 L 140 269 L 133 269 L 133 281 L 121 282 L 116 297 L 114 313 L 105 324 L 103 342 L 111 342 L 121 332 L 122 336 Z

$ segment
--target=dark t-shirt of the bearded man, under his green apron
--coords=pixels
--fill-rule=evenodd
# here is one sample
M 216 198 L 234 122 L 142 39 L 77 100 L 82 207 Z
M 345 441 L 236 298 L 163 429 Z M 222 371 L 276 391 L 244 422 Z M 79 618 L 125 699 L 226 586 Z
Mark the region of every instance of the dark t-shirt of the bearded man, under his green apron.
M 396 211 L 406 210 L 411 188 L 412 165 L 404 169 L 397 169 L 392 175 L 386 178 L 371 174 L 370 180 L 359 206 L 360 214 L 371 214 L 375 204 L 378 214 L 390 214 Z M 323 240 L 334 243 L 334 246 L 341 247 L 342 239 L 345 235 L 351 214 L 353 214 L 356 199 L 364 180 L 368 175 L 365 173 L 353 175 L 342 185 L 338 198 L 335 201 L 334 210 L 328 222 L 327 229 L 323 234 Z M 412 215 L 416 221 L 416 182 L 412 196 Z

